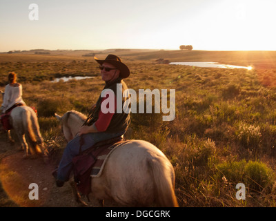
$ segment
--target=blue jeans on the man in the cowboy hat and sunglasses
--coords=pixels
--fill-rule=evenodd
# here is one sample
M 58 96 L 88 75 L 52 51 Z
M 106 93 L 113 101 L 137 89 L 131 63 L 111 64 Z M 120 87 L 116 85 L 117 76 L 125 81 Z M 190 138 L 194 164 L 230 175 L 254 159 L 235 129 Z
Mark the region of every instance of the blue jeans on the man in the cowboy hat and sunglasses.
M 93 144 L 97 142 L 108 140 L 114 137 L 119 137 L 124 135 L 121 133 L 86 133 L 81 135 L 83 137 L 83 145 L 81 146 L 81 151 L 86 151 Z M 61 161 L 59 162 L 59 168 L 57 170 L 57 179 L 66 182 L 70 178 L 70 173 L 72 171 L 72 159 L 79 155 L 81 137 L 77 135 L 74 139 L 68 142 L 66 148 L 64 149 Z

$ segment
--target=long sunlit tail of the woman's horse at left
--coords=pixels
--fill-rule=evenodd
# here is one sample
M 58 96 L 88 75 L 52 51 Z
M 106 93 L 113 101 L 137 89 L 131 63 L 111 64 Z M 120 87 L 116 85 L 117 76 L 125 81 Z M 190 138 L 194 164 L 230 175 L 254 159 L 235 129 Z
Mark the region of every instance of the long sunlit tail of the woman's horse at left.
M 37 122 L 37 116 L 32 110 L 25 111 L 23 114 L 23 125 L 25 127 L 27 139 L 31 144 L 30 151 L 33 153 L 41 154 L 43 150 L 39 146 L 43 148 L 43 139 L 41 137 L 41 133 L 39 130 L 39 124 Z

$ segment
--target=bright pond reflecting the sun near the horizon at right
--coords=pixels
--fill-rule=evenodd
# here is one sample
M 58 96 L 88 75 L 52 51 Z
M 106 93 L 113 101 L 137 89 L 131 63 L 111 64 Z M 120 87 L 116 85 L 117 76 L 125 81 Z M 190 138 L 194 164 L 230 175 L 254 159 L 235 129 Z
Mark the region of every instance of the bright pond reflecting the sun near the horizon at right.
M 187 61 L 187 62 L 170 62 L 170 64 L 174 65 L 186 65 L 186 66 L 196 66 L 201 68 L 244 68 L 247 70 L 252 70 L 252 67 L 246 67 L 246 66 L 236 66 L 231 64 L 219 64 L 217 62 L 213 61 Z

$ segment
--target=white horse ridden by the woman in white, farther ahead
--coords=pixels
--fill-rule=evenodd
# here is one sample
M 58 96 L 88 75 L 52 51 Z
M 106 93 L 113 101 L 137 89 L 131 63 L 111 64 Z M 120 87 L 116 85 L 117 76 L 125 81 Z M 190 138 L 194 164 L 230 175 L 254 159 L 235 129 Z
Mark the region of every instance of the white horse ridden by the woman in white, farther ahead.
M 45 155 L 44 142 L 39 130 L 37 114 L 29 106 L 18 106 L 10 113 L 10 123 L 19 138 L 21 148 L 25 150 L 24 157 Z M 10 134 L 9 134 L 10 135 Z M 11 139 L 11 137 L 9 137 Z

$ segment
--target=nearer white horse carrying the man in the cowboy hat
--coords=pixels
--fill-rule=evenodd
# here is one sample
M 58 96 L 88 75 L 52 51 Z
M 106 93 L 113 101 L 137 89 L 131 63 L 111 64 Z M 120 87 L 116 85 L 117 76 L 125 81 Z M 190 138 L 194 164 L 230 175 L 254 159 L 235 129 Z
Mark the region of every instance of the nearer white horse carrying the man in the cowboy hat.
M 86 119 L 77 111 L 55 115 L 68 142 Z M 93 197 L 115 200 L 121 206 L 178 206 L 174 189 L 172 164 L 156 146 L 144 140 L 130 140 L 117 147 L 101 175 L 91 180 Z

